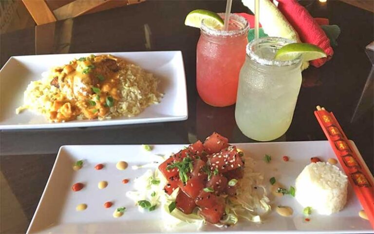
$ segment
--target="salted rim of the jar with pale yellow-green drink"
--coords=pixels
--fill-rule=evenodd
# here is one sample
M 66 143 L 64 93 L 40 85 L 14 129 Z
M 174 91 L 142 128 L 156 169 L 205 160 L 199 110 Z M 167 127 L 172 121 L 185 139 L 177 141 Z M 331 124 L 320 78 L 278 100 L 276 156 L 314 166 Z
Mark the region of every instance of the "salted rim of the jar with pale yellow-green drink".
M 295 43 L 295 40 L 291 39 L 285 39 L 285 38 L 278 38 L 278 37 L 266 37 L 266 38 L 260 38 L 259 40 L 252 40 L 249 42 L 246 46 L 246 52 L 247 56 L 249 56 L 252 60 L 255 62 L 261 64 L 261 65 L 268 65 L 268 66 L 290 66 L 296 63 L 299 63 L 301 60 L 301 55 L 292 60 L 286 60 L 286 61 L 279 61 L 279 60 L 274 60 L 274 59 L 263 59 L 260 56 L 258 56 L 254 51 L 253 47 L 258 44 L 262 44 L 265 42 L 273 42 L 273 44 L 282 44 L 282 45 L 287 45 L 290 43 Z

